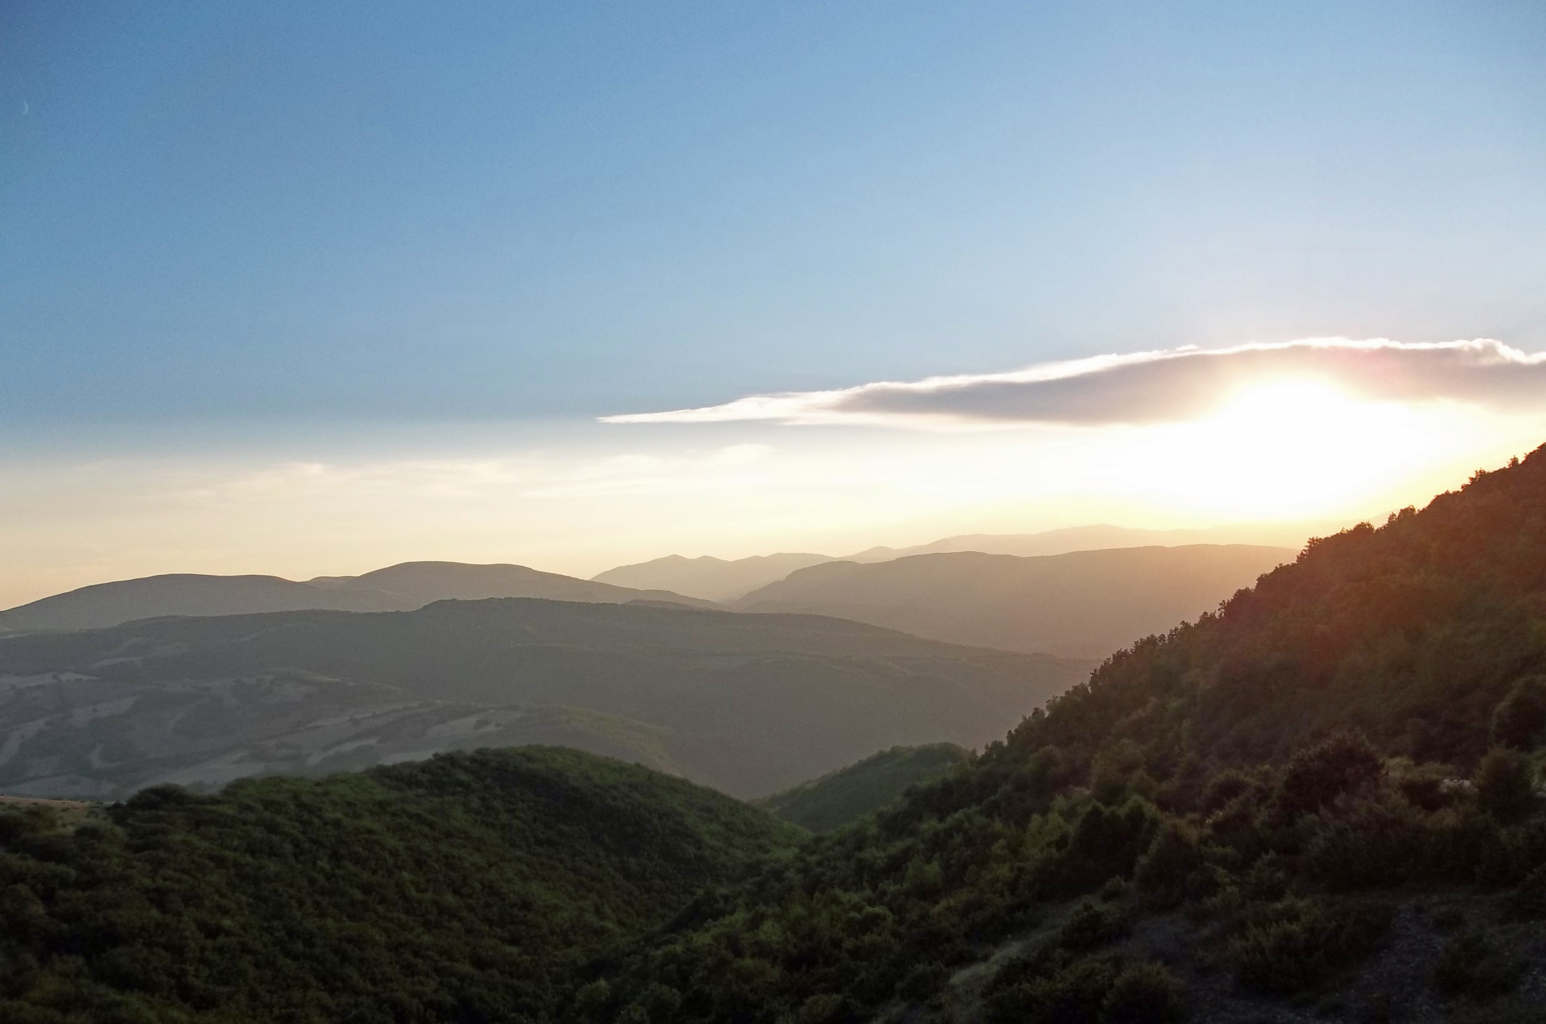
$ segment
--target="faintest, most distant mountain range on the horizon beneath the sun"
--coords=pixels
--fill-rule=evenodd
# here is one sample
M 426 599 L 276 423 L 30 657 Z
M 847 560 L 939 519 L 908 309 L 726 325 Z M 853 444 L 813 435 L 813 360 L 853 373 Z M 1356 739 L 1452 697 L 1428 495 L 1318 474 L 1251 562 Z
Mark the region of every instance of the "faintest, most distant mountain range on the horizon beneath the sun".
M 1214 526 L 1209 529 L 1127 529 L 1122 526 L 1074 526 L 1040 534 L 962 534 L 945 537 L 912 548 L 867 548 L 852 555 L 818 555 L 810 552 L 782 552 L 753 555 L 750 558 L 714 558 L 703 555 L 686 558 L 666 555 L 637 565 L 617 566 L 591 577 L 617 586 L 656 588 L 702 597 L 714 602 L 733 602 L 754 589 L 782 580 L 796 569 L 822 561 L 889 561 L 908 555 L 943 554 L 954 551 L 980 551 L 993 555 L 1061 555 L 1070 551 L 1102 551 L 1108 548 L 1147 548 L 1161 544 L 1265 544 L 1292 548 L 1296 552 L 1309 537 L 1334 534 L 1345 523 L 1248 523 L 1240 526 Z

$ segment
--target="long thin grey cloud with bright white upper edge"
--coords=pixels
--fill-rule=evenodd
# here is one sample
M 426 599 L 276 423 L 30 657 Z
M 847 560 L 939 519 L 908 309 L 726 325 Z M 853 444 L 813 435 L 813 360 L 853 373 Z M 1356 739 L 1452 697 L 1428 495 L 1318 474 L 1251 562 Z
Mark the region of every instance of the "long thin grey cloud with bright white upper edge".
M 1452 399 L 1540 407 L 1546 401 L 1546 353 L 1526 354 L 1490 339 L 1402 343 L 1334 337 L 1223 350 L 1187 346 L 1042 364 L 1011 373 L 753 394 L 724 405 L 603 416 L 601 421 L 912 427 L 1155 424 L 1206 416 L 1252 385 L 1279 381 L 1320 381 L 1368 401 Z

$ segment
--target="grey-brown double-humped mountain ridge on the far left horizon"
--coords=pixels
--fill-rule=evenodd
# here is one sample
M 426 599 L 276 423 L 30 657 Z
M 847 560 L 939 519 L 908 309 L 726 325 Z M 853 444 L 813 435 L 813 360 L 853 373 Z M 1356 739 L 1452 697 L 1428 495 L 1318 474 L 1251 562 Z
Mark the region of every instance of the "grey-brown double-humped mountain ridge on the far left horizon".
M 484 597 L 550 597 L 614 605 L 631 600 L 711 605 L 666 591 L 592 583 L 519 565 L 404 561 L 365 575 L 325 575 L 305 583 L 277 575 L 187 572 L 97 583 L 0 611 L 0 631 L 97 630 L 161 616 L 240 616 L 306 608 L 411 611 L 436 600 Z

